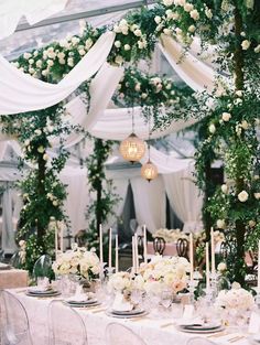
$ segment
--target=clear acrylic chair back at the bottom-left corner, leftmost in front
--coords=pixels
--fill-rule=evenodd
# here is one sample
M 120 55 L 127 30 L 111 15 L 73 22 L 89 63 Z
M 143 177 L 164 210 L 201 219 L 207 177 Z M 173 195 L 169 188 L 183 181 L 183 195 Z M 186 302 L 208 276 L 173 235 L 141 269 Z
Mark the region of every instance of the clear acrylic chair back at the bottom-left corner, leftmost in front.
M 10 292 L 0 292 L 2 345 L 32 345 L 28 313 Z

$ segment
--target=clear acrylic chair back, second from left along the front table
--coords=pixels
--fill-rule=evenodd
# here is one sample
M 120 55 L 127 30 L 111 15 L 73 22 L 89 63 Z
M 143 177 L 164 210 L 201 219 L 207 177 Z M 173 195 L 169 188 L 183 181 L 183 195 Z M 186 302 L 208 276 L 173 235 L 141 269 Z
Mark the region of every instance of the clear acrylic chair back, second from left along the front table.
M 62 301 L 48 305 L 48 345 L 87 345 L 87 331 L 82 316 Z

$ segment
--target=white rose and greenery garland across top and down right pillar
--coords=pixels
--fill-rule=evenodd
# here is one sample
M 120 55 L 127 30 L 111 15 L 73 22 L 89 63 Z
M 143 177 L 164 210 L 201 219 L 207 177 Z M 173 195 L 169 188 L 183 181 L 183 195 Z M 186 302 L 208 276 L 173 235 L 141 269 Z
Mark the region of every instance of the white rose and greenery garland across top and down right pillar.
M 113 25 L 116 40 L 108 57 L 110 63 L 117 65 L 148 58 L 162 33 L 180 42 L 184 52 L 195 35 L 201 37 L 203 47 L 217 44 L 215 63 L 219 71 L 234 76 L 234 79 L 229 78 L 229 85 L 216 79 L 210 106 L 206 103 L 207 95 L 198 97 L 197 104 L 193 105 L 193 114 L 208 117 L 205 140 L 196 154 L 197 183 L 204 188 L 204 181 L 207 180 L 205 163 L 210 166 L 214 157 L 224 160 L 228 181 L 221 192 L 217 191 L 210 200 L 206 200 L 206 209 L 215 225 L 219 226 L 219 220 L 225 224 L 223 228 L 232 254 L 230 278 L 241 283 L 245 281 L 243 254 L 247 239 L 250 238 L 251 244 L 256 242 L 252 234 L 259 230 L 257 222 L 260 216 L 259 143 L 256 131 L 260 106 L 257 89 L 260 77 L 259 13 L 260 4 L 253 0 L 163 0 L 152 9 L 127 13 Z M 35 77 L 55 82 L 86 54 L 105 30 L 82 23 L 80 35 L 25 53 L 15 64 Z M 139 82 L 136 80 L 133 93 Z M 156 93 L 155 84 L 163 83 L 154 82 L 155 97 L 151 96 L 151 99 L 156 106 L 156 99 L 160 99 L 156 94 L 161 90 Z M 121 87 L 123 90 L 123 83 Z M 141 82 L 137 88 L 143 90 Z M 175 116 L 180 116 L 178 111 Z

